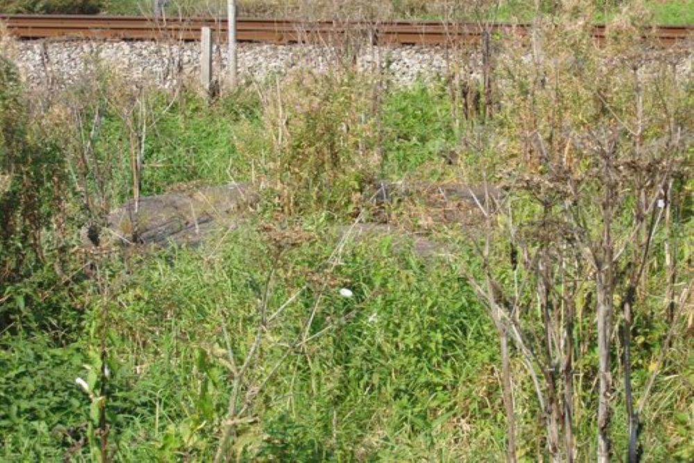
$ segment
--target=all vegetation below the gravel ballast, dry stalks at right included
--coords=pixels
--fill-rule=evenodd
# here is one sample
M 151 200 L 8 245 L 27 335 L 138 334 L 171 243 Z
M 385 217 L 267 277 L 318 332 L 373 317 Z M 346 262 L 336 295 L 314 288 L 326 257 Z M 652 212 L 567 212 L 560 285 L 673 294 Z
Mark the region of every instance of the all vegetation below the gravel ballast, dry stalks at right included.
M 489 101 L 350 56 L 212 102 L 101 68 L 46 99 L 3 58 L 0 460 L 593 460 L 607 398 L 615 459 L 631 419 L 643 461 L 691 461 L 691 88 L 632 24 L 495 42 Z M 226 182 L 257 210 L 197 248 L 81 242 L 136 185 Z M 398 231 L 343 241 L 360 221 Z

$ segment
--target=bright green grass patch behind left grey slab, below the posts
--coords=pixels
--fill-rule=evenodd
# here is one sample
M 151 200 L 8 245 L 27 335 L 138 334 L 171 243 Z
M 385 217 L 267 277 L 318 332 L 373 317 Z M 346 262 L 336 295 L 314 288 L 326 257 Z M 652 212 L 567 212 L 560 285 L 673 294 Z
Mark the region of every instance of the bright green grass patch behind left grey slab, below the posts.
M 147 121 L 155 123 L 144 141 L 143 194 L 201 179 L 213 185 L 250 180 L 251 156 L 239 153 L 239 140 L 260 132 L 260 102 L 252 94 L 232 96 L 212 107 L 196 94 L 176 101 L 154 94 L 148 106 Z M 110 113 L 103 131 L 97 149 L 128 151 L 128 128 L 120 115 Z M 127 192 L 119 195 L 121 201 L 125 197 Z

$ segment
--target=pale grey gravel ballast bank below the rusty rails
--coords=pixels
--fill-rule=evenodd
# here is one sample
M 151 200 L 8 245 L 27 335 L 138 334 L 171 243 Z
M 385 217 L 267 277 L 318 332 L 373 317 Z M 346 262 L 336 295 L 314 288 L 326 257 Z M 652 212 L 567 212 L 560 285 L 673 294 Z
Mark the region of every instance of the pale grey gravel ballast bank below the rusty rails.
M 28 41 L 16 42 L 14 55 L 30 86 L 51 82 L 64 86 L 104 69 L 132 83 L 174 87 L 197 78 L 198 43 Z M 224 49 L 214 49 L 214 71 L 226 66 Z M 265 81 L 295 69 L 325 71 L 347 58 L 345 53 L 316 45 L 239 44 L 238 67 L 242 79 Z M 364 47 L 356 53 L 357 67 L 382 67 L 396 83 L 408 85 L 446 74 L 446 53 L 441 47 Z

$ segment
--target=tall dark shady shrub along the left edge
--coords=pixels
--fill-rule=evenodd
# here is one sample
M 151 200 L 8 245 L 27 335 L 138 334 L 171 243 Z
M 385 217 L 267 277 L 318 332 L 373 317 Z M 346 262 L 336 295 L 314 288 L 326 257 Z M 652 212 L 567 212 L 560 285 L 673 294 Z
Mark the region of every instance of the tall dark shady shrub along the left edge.
M 46 263 L 51 250 L 42 234 L 51 225 L 60 229 L 62 221 L 53 218 L 62 209 L 66 176 L 56 144 L 29 123 L 15 66 L 0 57 L 0 326 L 48 326 L 62 308 L 45 304 L 60 291 L 40 294 L 59 280 L 57 262 Z M 32 280 L 34 273 L 40 278 Z M 41 310 L 33 306 L 39 300 Z

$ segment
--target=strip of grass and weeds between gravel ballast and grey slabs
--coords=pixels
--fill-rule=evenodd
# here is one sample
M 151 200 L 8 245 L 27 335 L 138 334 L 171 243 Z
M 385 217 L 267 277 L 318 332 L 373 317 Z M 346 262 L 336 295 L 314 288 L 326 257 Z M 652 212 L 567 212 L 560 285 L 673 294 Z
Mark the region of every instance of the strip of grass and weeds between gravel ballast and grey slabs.
M 417 83 L 396 90 L 384 97 L 380 115 L 373 113 L 366 85 L 368 79 L 362 83 L 354 76 L 332 81 L 307 74 L 265 102 L 251 87 L 223 96 L 211 106 L 196 92 L 174 99 L 153 92 L 144 96 L 144 110 L 133 106 L 129 95 L 122 98 L 122 109 L 117 109 L 119 96 L 90 100 L 91 94 L 77 92 L 70 98 L 87 99 L 90 103 L 83 108 L 87 115 L 97 110 L 103 115 L 93 149 L 101 162 L 112 167 L 108 174 L 111 205 L 132 195 L 130 156 L 141 148 L 145 195 L 180 189 L 187 183 L 266 180 L 279 195 L 286 194 L 282 185 L 291 184 L 296 194 L 308 195 L 306 204 L 314 204 L 319 196 L 328 200 L 324 195 L 328 183 L 332 184 L 328 196 L 341 201 L 341 194 L 348 196 L 379 177 L 400 178 L 425 165 L 441 170 L 443 153 L 457 147 L 443 85 Z M 263 110 L 266 103 L 270 109 Z M 291 126 L 278 146 L 280 111 L 286 112 L 282 117 Z M 60 127 L 65 111 L 56 112 L 61 115 L 56 121 Z M 377 116 L 382 117 L 380 126 Z M 346 119 L 350 119 L 347 126 Z M 133 126 L 139 130 L 143 123 L 151 128 L 145 130 L 144 146 L 134 148 Z M 88 136 L 91 129 L 87 125 L 75 136 Z M 359 151 L 358 162 L 352 159 L 355 151 Z M 375 159 L 378 156 L 383 162 Z M 319 172 L 323 183 L 316 181 Z M 298 192 L 302 188 L 305 192 Z

